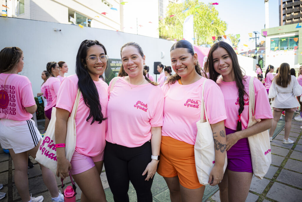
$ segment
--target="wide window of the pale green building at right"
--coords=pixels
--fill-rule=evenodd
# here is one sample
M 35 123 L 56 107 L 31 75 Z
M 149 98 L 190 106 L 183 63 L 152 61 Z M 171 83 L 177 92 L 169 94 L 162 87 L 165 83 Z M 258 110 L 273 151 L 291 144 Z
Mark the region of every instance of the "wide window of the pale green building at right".
M 298 46 L 299 36 L 271 38 L 271 51 L 276 50 L 293 50 L 295 46 Z

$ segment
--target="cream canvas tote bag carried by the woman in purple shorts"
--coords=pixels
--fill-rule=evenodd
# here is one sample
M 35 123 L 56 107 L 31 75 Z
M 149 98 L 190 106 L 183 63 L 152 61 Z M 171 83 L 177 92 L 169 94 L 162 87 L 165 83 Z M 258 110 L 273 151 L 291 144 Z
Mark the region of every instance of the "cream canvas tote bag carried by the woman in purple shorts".
M 255 88 L 254 77 L 249 81 L 249 123 L 247 127 L 261 121 L 255 119 Z M 252 156 L 252 167 L 255 177 L 263 179 L 271 165 L 271 143 L 268 130 L 248 137 L 249 148 Z

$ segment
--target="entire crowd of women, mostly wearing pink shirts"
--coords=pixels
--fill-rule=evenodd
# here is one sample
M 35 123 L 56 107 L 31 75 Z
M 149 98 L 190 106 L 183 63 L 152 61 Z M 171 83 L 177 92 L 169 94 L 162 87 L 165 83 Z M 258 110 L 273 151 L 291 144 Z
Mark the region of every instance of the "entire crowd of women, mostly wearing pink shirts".
M 291 118 L 302 104 L 300 97 L 296 98 L 302 94 L 302 66 L 298 79 L 290 75 L 287 63 L 280 65 L 275 76 L 274 67 L 268 65 L 263 78 L 257 64 L 259 79 L 253 79 L 239 66 L 233 48 L 220 41 L 210 48 L 201 69 L 191 43 L 180 40 L 170 49 L 171 66 L 157 67 L 160 75 L 156 82 L 145 64 L 148 55 L 139 44 L 128 42 L 120 49 L 119 76 L 108 85 L 100 79 L 108 55 L 99 41 L 82 41 L 76 55 L 76 75 L 64 76 L 68 72 L 64 61 L 48 62 L 37 94 L 46 99 L 45 131 L 55 107 L 55 141 L 65 145 L 67 120 L 78 89 L 81 92 L 71 161 L 66 158 L 65 146 L 56 147 L 56 176 L 65 178 L 71 174 L 82 191 L 81 201 L 106 201 L 100 178 L 103 165 L 114 201 L 129 201 L 130 181 L 137 201 L 153 201 L 151 186 L 156 172 L 165 179 L 172 202 L 201 201 L 205 186 L 198 180 L 194 144 L 196 122 L 205 116 L 215 142 L 214 167 L 208 183 L 219 186 L 221 201 L 245 201 L 249 193 L 253 169 L 247 137 L 270 129 L 272 141 L 285 111 L 283 143 L 293 143 L 288 136 Z M 28 188 L 28 153 L 36 156 L 42 136 L 31 119 L 37 109 L 31 82 L 18 75 L 23 69 L 23 57 L 18 47 L 6 47 L 0 52 L 0 143 L 14 161 L 14 179 L 21 200 L 40 202 L 43 197 L 32 197 Z M 261 121 L 248 127 L 250 80 L 255 90 L 254 115 Z M 206 114 L 201 114 L 201 100 Z M 299 116 L 302 120 L 302 112 Z M 55 174 L 40 166 L 51 201 L 64 201 Z

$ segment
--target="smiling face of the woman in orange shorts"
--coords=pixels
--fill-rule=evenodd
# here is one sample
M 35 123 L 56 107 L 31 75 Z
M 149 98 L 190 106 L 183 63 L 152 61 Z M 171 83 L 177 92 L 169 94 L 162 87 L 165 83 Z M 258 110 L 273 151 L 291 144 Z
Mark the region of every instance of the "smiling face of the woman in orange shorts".
M 170 51 L 172 68 L 180 77 L 187 77 L 196 73 L 194 61 L 197 61 L 197 54 L 193 56 L 187 48 L 175 48 Z

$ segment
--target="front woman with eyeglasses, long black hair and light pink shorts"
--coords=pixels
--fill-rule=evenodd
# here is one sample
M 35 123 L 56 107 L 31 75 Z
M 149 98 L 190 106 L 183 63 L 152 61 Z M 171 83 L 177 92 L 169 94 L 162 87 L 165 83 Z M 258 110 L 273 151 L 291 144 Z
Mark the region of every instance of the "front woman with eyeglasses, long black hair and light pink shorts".
M 67 120 L 81 91 L 76 112 L 76 149 L 69 162 L 65 146 L 56 148 L 57 172 L 61 178 L 69 172 L 82 190 L 81 201 L 106 201 L 100 174 L 103 167 L 108 84 L 99 76 L 107 67 L 106 48 L 98 41 L 85 40 L 76 56 L 76 75 L 64 78 L 56 104 L 56 144 L 65 144 Z

